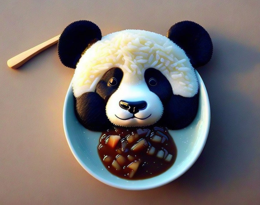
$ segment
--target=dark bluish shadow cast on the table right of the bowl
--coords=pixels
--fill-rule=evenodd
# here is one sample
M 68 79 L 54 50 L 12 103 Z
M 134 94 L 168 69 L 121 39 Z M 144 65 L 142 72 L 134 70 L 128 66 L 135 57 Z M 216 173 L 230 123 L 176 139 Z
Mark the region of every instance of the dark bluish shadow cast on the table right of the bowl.
M 250 86 L 259 97 L 260 53 L 220 36 L 212 41 L 212 60 L 198 68 L 210 98 L 208 139 L 195 164 L 170 186 L 207 189 L 248 178 L 260 167 L 260 105 Z

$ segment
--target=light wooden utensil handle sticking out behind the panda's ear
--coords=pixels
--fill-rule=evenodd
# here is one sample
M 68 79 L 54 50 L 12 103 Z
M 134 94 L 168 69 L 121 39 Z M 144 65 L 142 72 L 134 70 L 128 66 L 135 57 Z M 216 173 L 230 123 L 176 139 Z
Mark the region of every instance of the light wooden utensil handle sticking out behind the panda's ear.
M 7 65 L 10 68 L 16 69 L 19 68 L 21 65 L 23 65 L 26 61 L 28 61 L 29 59 L 31 59 L 33 56 L 37 55 L 38 53 L 42 52 L 43 50 L 45 50 L 46 48 L 54 45 L 55 43 L 58 42 L 59 40 L 59 36 L 55 36 L 27 51 L 24 51 L 20 54 L 18 54 L 15 57 L 12 57 L 11 59 L 9 59 L 7 61 Z

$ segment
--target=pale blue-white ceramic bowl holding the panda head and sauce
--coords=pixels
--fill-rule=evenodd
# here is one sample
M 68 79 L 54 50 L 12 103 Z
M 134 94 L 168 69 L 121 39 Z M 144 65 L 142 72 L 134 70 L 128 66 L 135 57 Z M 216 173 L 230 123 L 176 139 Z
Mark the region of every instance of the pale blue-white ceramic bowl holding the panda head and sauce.
M 68 145 L 84 169 L 103 183 L 127 190 L 145 190 L 167 184 L 185 173 L 197 160 L 205 145 L 210 128 L 210 104 L 205 85 L 196 71 L 200 86 L 198 114 L 194 121 L 184 129 L 169 130 L 177 146 L 177 158 L 164 173 L 142 180 L 121 179 L 111 174 L 98 156 L 101 132 L 84 128 L 74 112 L 74 99 L 70 84 L 63 108 L 63 126 Z

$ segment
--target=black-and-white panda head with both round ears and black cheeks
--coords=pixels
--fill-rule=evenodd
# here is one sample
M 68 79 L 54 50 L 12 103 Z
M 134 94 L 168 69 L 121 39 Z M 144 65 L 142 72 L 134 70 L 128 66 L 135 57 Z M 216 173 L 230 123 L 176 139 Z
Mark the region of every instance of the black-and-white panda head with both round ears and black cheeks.
M 65 66 L 76 68 L 76 115 L 86 128 L 159 124 L 180 129 L 196 116 L 194 68 L 210 60 L 212 42 L 190 21 L 172 26 L 167 37 L 144 30 L 102 37 L 96 24 L 83 20 L 64 29 L 58 53 Z

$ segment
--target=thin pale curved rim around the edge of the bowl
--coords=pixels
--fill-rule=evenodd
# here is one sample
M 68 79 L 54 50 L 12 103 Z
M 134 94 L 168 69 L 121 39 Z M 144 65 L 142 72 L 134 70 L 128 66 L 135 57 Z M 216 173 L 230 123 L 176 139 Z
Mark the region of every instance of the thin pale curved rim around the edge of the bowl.
M 66 115 L 66 107 L 67 107 L 67 103 L 68 103 L 68 98 L 69 98 L 69 93 L 71 92 L 71 85 L 72 85 L 72 81 L 68 87 L 68 91 L 66 93 L 66 97 L 65 97 L 65 100 L 64 100 L 64 106 L 63 106 L 63 128 L 64 128 L 64 132 L 65 132 L 65 136 L 66 136 L 66 140 L 68 142 L 68 146 L 69 148 L 71 149 L 71 152 L 73 153 L 74 157 L 76 158 L 76 160 L 80 163 L 80 165 L 90 174 L 92 175 L 94 178 L 98 179 L 99 181 L 109 185 L 109 186 L 112 186 L 112 187 L 115 187 L 115 188 L 120 188 L 120 189 L 125 189 L 125 190 L 147 190 L 147 189 L 153 189 L 153 188 L 157 188 L 157 187 L 160 187 L 160 186 L 163 186 L 167 183 L 170 183 L 171 181 L 174 181 L 175 179 L 177 179 L 178 177 L 180 177 L 181 175 L 183 175 L 185 172 L 187 172 L 187 170 L 192 167 L 192 165 L 196 162 L 196 160 L 198 159 L 198 157 L 200 156 L 204 146 L 205 146 L 205 143 L 207 141 L 207 136 L 208 136 L 208 133 L 209 133 L 209 129 L 210 129 L 210 102 L 209 102 L 209 97 L 208 97 L 208 94 L 207 94 L 207 90 L 206 90 L 206 87 L 205 87 L 205 84 L 201 78 L 201 76 L 199 75 L 199 73 L 197 72 L 197 70 L 195 70 L 195 73 L 196 73 L 196 76 L 197 76 L 197 79 L 198 79 L 198 84 L 199 84 L 199 87 L 200 87 L 200 92 L 203 92 L 204 95 L 205 95 L 205 107 L 203 107 L 203 109 L 205 109 L 205 112 L 207 113 L 207 117 L 206 117 L 206 122 L 205 122 L 205 126 L 206 126 L 206 129 L 205 131 L 202 133 L 203 136 L 201 136 L 203 139 L 201 139 L 201 144 L 199 145 L 198 147 L 198 151 L 194 154 L 193 158 L 190 160 L 189 163 L 187 163 L 187 166 L 185 167 L 185 169 L 183 169 L 181 172 L 179 172 L 178 174 L 175 174 L 175 175 L 172 175 L 171 177 L 159 182 L 159 183 L 151 183 L 151 184 L 148 184 L 148 185 L 143 185 L 143 186 L 125 186 L 125 185 L 120 185 L 118 183 L 113 183 L 109 180 L 106 180 L 104 177 L 101 177 L 100 175 L 96 174 L 95 172 L 93 172 L 91 169 L 89 169 L 89 167 L 80 159 L 79 155 L 77 155 L 77 152 L 76 150 L 73 148 L 73 145 L 72 145 L 72 142 L 70 140 L 70 137 L 68 136 L 68 128 L 67 128 L 67 125 L 66 125 L 66 118 L 67 118 L 67 115 Z M 152 179 L 152 178 L 149 178 L 149 179 Z M 142 179 L 141 179 L 142 180 Z

